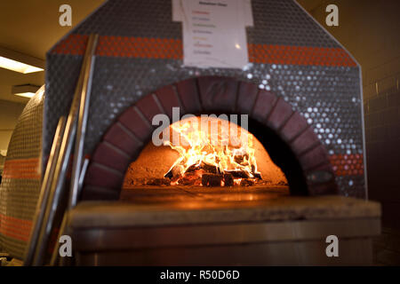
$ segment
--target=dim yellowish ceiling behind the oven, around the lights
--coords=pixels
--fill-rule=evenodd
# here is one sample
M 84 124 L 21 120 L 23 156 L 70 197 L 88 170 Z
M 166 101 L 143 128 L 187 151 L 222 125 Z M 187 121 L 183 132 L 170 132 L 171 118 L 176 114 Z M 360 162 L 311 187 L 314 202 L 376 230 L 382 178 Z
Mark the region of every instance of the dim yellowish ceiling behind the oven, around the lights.
M 151 0 L 149 0 L 151 1 Z M 0 1 L 0 47 L 19 51 L 38 59 L 62 36 L 99 7 L 105 0 L 7 0 Z M 324 0 L 299 0 L 312 11 Z M 61 4 L 72 8 L 72 27 L 59 24 Z M 0 99 L 27 103 L 28 99 L 12 95 L 12 85 L 44 83 L 44 72 L 20 74 L 0 68 Z

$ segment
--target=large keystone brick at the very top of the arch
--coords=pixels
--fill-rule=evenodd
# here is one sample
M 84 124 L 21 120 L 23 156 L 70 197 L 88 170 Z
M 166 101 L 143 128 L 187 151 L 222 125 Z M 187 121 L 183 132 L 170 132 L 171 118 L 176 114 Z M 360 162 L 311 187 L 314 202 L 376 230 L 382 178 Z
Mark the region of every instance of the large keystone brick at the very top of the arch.
M 205 109 L 235 112 L 238 82 L 232 78 L 206 76 L 197 79 Z

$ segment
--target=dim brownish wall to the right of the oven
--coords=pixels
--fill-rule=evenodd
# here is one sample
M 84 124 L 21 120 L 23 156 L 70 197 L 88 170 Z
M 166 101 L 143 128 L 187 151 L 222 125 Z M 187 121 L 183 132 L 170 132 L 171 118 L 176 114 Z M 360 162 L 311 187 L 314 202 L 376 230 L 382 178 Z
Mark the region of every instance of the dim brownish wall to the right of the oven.
M 325 26 L 327 4 L 339 7 L 339 27 Z M 383 225 L 397 229 L 400 229 L 399 12 L 398 0 L 324 0 L 311 11 L 362 67 L 369 197 L 380 201 Z

